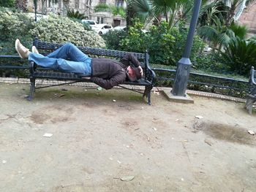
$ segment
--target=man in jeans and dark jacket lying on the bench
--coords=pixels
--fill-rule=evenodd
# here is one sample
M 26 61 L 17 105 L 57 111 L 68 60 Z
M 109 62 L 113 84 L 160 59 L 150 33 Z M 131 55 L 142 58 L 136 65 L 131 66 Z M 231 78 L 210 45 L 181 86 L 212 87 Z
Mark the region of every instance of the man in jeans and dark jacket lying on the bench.
M 20 43 L 19 39 L 15 41 L 15 49 L 20 58 L 28 58 L 29 61 L 34 61 L 37 65 L 50 69 L 80 74 L 83 78 L 90 79 L 91 82 L 105 89 L 113 88 L 127 78 L 130 81 L 136 81 L 143 76 L 140 62 L 131 53 L 121 58 L 121 61 L 110 58 L 89 58 L 78 47 L 67 43 L 53 53 L 44 56 L 39 54 L 34 46 L 30 52 Z M 129 62 L 134 66 L 130 66 Z

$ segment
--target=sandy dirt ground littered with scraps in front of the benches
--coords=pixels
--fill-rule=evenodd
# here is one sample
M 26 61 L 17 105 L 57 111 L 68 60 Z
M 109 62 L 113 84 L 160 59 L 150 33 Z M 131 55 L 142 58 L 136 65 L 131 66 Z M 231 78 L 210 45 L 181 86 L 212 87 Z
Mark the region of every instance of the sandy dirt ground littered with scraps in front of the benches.
M 148 106 L 138 93 L 74 86 L 29 102 L 28 92 L 0 84 L 0 191 L 256 191 L 256 112 L 244 104 L 153 94 Z

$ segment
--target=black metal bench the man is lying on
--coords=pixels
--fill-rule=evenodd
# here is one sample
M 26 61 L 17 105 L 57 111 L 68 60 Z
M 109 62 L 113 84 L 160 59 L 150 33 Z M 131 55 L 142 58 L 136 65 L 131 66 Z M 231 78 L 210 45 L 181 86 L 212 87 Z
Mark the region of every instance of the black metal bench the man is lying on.
M 61 44 L 54 44 L 54 43 L 49 43 L 49 42 L 41 42 L 38 39 L 34 39 L 33 45 L 37 47 L 39 50 L 39 53 L 42 55 L 47 55 L 50 52 L 53 52 L 54 50 L 58 49 L 61 47 Z M 108 57 L 108 58 L 122 58 L 124 55 L 126 55 L 128 52 L 125 51 L 119 51 L 119 50 L 106 50 L 106 49 L 101 49 L 101 48 L 91 48 L 91 47 L 78 47 L 83 53 L 86 53 L 90 57 Z M 154 85 L 154 78 L 155 78 L 155 73 L 153 70 L 151 70 L 149 66 L 149 55 L 148 53 L 132 53 L 135 55 L 138 60 L 141 63 L 141 66 L 143 68 L 143 78 L 141 80 L 138 80 L 137 82 L 124 82 L 124 84 L 127 85 L 142 85 L 145 86 L 144 92 L 140 92 L 136 90 L 135 88 L 127 88 L 122 85 L 118 85 L 121 88 L 127 88 L 131 91 L 135 91 L 138 93 L 142 93 L 143 97 L 146 96 L 148 99 L 148 104 L 151 104 L 151 89 L 153 88 Z M 66 82 L 66 83 L 61 83 L 59 85 L 65 85 L 65 84 L 71 84 L 75 82 L 91 82 L 90 80 L 86 80 L 85 78 L 82 78 L 79 74 L 74 74 L 74 73 L 67 73 L 67 72 L 56 72 L 51 69 L 46 69 L 41 66 L 37 66 L 37 64 L 34 63 L 34 61 L 29 62 L 29 69 L 30 69 L 30 91 L 29 91 L 29 101 L 33 99 L 34 92 L 37 88 L 45 88 L 45 87 L 50 87 L 53 85 L 48 85 L 48 86 L 41 86 L 41 87 L 36 87 L 35 82 L 36 79 L 54 79 L 54 80 L 69 80 L 72 82 Z M 54 85 L 56 86 L 56 85 Z

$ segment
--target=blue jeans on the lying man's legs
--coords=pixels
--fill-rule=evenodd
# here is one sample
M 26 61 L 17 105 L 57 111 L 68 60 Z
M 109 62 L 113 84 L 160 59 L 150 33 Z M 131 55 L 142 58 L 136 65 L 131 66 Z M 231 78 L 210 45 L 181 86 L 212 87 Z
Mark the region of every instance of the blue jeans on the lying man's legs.
M 71 61 L 67 61 L 67 58 Z M 70 42 L 47 56 L 30 53 L 29 61 L 54 70 L 91 76 L 91 58 Z

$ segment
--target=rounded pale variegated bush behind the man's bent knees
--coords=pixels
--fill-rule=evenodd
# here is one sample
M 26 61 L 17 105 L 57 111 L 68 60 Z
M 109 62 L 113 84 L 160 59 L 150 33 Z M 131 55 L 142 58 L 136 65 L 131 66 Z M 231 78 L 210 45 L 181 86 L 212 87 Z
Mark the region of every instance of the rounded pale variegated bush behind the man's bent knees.
M 46 42 L 72 42 L 80 46 L 105 47 L 104 39 L 94 31 L 86 31 L 83 24 L 56 15 L 39 20 L 30 33 Z

